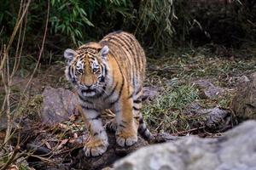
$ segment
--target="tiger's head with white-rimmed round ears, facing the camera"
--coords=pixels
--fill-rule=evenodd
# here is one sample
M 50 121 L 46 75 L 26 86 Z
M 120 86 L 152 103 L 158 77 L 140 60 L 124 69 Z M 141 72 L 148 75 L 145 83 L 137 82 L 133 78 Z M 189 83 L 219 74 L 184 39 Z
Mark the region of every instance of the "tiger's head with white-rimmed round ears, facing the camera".
M 69 48 L 65 50 L 66 77 L 80 95 L 94 97 L 104 93 L 108 72 L 108 51 L 107 45 L 102 47 L 96 42 L 87 43 L 77 50 Z

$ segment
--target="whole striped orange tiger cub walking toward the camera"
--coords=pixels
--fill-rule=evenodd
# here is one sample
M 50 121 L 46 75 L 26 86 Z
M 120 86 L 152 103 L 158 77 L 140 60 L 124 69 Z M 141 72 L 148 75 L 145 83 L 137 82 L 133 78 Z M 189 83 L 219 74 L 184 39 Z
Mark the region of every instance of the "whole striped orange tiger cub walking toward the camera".
M 116 142 L 130 146 L 137 132 L 149 139 L 140 113 L 146 57 L 137 39 L 116 31 L 100 42 L 89 42 L 77 50 L 67 48 L 66 77 L 79 95 L 84 122 L 90 138 L 84 144 L 85 156 L 100 156 L 108 148 L 108 136 L 102 126 L 101 112 L 111 109 L 115 118 L 108 127 L 115 130 Z

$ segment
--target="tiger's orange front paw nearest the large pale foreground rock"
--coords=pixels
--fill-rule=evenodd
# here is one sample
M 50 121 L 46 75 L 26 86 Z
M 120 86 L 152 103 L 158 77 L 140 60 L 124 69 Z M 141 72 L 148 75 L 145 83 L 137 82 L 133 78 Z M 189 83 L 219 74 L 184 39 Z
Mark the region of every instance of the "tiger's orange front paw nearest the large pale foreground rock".
M 119 133 L 116 133 L 116 142 L 122 147 L 131 146 L 132 144 L 137 143 L 137 133 L 120 131 Z

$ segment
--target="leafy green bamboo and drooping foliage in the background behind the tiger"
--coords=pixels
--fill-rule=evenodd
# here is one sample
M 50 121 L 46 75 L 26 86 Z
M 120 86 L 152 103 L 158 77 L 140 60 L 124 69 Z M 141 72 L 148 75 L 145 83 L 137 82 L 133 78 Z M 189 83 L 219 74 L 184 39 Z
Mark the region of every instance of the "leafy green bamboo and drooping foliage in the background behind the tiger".
M 173 1 L 175 2 L 175 1 Z M 50 36 L 61 35 L 64 42 L 79 45 L 100 39 L 108 32 L 125 30 L 135 33 L 148 46 L 165 48 L 172 44 L 175 33 L 175 8 L 172 0 L 50 0 Z M 0 14 L 1 34 L 9 37 L 15 26 L 20 3 L 5 1 Z M 32 2 L 27 15 L 27 35 L 43 32 L 48 1 Z M 150 37 L 150 39 L 148 39 Z M 32 37 L 30 41 L 34 41 Z M 145 40 L 145 41 L 144 41 Z

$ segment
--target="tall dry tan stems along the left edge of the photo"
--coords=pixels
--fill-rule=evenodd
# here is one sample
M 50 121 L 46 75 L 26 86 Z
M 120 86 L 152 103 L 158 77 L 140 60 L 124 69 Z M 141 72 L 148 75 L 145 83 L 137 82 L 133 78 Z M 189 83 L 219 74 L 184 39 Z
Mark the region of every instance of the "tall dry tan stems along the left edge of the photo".
M 38 56 L 38 62 L 30 80 L 27 82 L 26 87 L 23 91 L 14 92 L 13 91 L 13 78 L 15 77 L 16 71 L 20 67 L 20 58 L 23 50 L 23 44 L 25 42 L 25 33 L 26 33 L 26 17 L 29 5 L 31 0 L 20 1 L 20 10 L 17 16 L 17 21 L 15 24 L 14 31 L 12 36 L 9 38 L 9 42 L 2 44 L 1 46 L 1 65 L 0 65 L 0 74 L 1 74 L 1 84 L 4 87 L 4 99 L 2 103 L 2 109 L 0 112 L 0 117 L 6 116 L 6 130 L 5 136 L 3 139 L 3 144 L 0 144 L 0 169 L 7 169 L 10 167 L 17 167 L 19 169 L 29 169 L 27 165 L 24 167 L 23 161 L 20 161 L 20 158 L 25 160 L 28 155 L 31 153 L 26 153 L 26 151 L 21 151 L 20 146 L 22 141 L 20 139 L 20 120 L 22 117 L 22 112 L 26 111 L 26 106 L 28 105 L 28 98 L 26 96 L 26 90 L 29 84 L 32 81 L 35 71 L 38 69 L 39 60 L 44 50 L 44 41 L 46 37 L 47 24 L 44 31 L 44 40 L 42 42 L 42 47 L 40 48 L 40 53 Z M 49 8 L 48 16 L 46 23 L 48 23 L 49 18 Z M 15 44 L 14 44 L 15 42 Z M 15 47 L 15 52 L 12 51 Z M 10 57 L 15 55 L 14 57 Z M 17 99 L 14 96 L 18 96 Z M 15 146 L 12 146 L 15 139 Z M 26 168 L 27 167 L 27 168 Z

